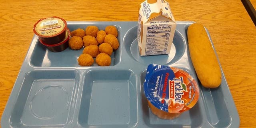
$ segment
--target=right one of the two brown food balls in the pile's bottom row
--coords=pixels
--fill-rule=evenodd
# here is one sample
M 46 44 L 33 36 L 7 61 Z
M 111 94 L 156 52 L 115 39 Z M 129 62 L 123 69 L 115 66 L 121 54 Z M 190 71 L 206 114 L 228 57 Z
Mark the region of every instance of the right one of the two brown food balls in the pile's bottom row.
M 111 58 L 108 54 L 106 53 L 100 53 L 98 54 L 98 56 L 96 57 L 96 63 L 99 66 L 110 66 L 111 64 Z

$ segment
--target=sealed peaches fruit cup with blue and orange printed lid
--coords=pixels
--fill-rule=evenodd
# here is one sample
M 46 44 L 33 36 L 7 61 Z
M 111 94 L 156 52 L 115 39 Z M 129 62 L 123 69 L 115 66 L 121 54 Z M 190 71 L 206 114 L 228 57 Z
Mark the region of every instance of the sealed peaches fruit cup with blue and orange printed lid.
M 199 88 L 188 72 L 179 68 L 150 64 L 144 82 L 148 105 L 162 119 L 174 119 L 192 108 Z

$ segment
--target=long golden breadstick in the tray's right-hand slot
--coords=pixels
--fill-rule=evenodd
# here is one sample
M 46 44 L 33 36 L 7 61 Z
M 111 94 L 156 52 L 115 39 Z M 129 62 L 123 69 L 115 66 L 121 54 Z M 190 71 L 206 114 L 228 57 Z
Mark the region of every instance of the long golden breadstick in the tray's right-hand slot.
M 201 84 L 206 88 L 220 86 L 220 65 L 202 24 L 194 23 L 188 27 L 188 48 Z

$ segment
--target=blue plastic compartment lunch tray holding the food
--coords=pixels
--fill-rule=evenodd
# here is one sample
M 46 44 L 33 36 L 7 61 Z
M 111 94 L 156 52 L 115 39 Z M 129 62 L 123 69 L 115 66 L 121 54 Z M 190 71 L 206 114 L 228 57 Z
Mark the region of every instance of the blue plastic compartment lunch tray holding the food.
M 1 120 L 2 128 L 238 128 L 239 116 L 222 72 L 219 88 L 202 87 L 188 51 L 187 28 L 177 22 L 171 53 L 140 56 L 137 22 L 67 22 L 70 31 L 118 28 L 111 66 L 81 67 L 81 50 L 51 52 L 32 39 Z M 209 35 L 209 33 L 208 33 Z M 210 35 L 209 35 L 210 38 Z M 197 104 L 174 120 L 152 114 L 143 84 L 149 64 L 189 72 L 200 86 Z

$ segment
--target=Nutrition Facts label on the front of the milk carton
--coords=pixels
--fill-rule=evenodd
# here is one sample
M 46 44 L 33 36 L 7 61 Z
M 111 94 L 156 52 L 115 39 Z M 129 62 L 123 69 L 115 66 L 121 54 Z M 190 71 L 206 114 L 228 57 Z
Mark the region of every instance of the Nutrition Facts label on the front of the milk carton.
M 171 26 L 149 26 L 147 29 L 145 54 L 166 54 Z

